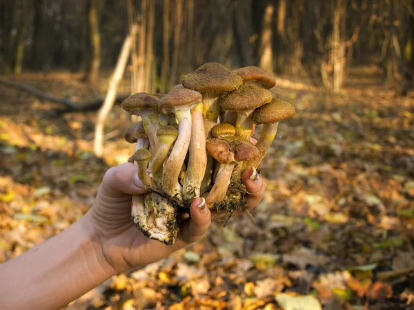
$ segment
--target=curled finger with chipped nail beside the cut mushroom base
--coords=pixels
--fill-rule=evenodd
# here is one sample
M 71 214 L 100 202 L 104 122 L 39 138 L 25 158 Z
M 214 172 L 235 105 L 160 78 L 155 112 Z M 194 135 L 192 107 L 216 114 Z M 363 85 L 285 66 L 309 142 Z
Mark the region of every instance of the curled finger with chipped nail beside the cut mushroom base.
M 191 218 L 186 220 L 182 228 L 182 240 L 191 244 L 206 234 L 211 223 L 211 213 L 204 198 L 195 198 L 190 205 Z

